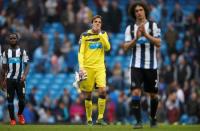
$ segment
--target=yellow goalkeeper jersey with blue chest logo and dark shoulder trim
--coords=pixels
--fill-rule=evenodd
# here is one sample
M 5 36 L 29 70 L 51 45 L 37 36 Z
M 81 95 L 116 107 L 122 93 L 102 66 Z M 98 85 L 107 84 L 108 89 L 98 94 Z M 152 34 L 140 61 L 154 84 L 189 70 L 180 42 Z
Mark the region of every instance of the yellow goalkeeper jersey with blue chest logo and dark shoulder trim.
M 105 51 L 110 50 L 108 35 L 105 31 L 94 34 L 90 29 L 81 35 L 79 44 L 79 68 L 105 68 Z

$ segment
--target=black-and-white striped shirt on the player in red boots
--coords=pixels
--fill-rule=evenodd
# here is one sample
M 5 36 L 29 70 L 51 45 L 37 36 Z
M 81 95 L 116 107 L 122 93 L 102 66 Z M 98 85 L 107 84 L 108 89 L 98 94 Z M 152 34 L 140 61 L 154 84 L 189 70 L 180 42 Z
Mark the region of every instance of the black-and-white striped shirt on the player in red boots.
M 24 72 L 24 65 L 29 61 L 25 50 L 21 48 L 12 49 L 3 52 L 3 64 L 8 65 L 8 79 L 21 79 Z

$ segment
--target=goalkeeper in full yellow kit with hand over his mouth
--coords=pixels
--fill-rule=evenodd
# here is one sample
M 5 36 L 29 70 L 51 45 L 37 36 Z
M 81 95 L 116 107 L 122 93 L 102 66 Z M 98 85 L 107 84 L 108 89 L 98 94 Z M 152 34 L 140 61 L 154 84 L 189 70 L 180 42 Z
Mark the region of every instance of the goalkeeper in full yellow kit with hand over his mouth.
M 87 79 L 80 82 L 80 89 L 85 95 L 87 124 L 92 125 L 92 91 L 98 88 L 98 119 L 96 124 L 104 125 L 106 106 L 106 69 L 104 64 L 105 51 L 110 50 L 108 35 L 101 30 L 102 17 L 92 18 L 92 27 L 82 33 L 78 53 L 79 70 L 87 74 Z

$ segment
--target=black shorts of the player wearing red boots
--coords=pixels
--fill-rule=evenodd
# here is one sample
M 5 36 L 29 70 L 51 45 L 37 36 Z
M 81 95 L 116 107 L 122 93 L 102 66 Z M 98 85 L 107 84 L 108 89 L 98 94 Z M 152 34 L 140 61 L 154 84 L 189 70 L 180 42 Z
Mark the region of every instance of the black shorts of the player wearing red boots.
M 25 100 L 25 84 L 19 80 L 7 79 L 7 100 L 12 102 L 15 92 L 20 101 Z

